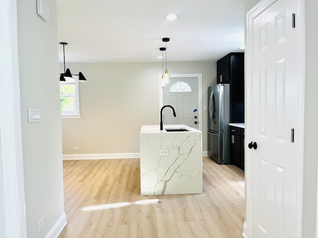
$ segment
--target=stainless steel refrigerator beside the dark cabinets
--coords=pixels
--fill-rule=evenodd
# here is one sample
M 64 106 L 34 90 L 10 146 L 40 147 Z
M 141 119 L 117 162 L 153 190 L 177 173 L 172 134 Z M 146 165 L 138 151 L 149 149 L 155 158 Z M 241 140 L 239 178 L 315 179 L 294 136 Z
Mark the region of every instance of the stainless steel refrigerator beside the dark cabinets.
M 230 84 L 215 84 L 208 94 L 208 156 L 230 164 Z

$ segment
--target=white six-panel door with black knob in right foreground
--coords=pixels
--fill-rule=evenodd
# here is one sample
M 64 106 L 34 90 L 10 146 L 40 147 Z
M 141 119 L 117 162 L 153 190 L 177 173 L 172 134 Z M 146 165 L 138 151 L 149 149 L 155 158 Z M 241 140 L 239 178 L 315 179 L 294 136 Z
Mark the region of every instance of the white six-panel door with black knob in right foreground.
M 301 203 L 301 113 L 296 101 L 297 29 L 294 0 L 277 0 L 253 20 L 252 238 L 298 237 Z M 296 132 L 297 131 L 297 132 Z M 299 135 L 299 134 L 298 134 Z M 248 140 L 248 138 L 247 138 Z M 247 141 L 249 143 L 249 141 Z M 252 144 L 251 144 L 252 145 Z

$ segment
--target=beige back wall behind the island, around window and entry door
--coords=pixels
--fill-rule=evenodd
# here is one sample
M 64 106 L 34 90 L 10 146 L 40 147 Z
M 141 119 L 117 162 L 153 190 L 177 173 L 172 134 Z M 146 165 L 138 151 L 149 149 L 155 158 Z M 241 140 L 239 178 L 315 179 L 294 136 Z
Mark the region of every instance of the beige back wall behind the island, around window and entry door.
M 66 63 L 81 71 L 80 119 L 62 119 L 63 154 L 138 153 L 143 124 L 159 124 L 158 63 Z M 170 73 L 202 73 L 203 106 L 216 83 L 214 62 L 169 62 Z M 63 63 L 60 64 L 61 72 Z M 203 112 L 203 150 L 207 150 L 207 112 Z M 79 146 L 79 151 L 74 151 Z

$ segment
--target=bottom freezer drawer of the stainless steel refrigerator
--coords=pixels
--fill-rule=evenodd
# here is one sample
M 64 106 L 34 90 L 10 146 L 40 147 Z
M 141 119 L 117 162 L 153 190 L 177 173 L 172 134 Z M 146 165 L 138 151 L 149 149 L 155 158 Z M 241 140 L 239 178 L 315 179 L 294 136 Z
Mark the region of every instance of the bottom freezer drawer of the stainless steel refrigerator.
M 208 156 L 219 164 L 230 164 L 230 148 L 228 148 L 223 132 L 208 131 Z

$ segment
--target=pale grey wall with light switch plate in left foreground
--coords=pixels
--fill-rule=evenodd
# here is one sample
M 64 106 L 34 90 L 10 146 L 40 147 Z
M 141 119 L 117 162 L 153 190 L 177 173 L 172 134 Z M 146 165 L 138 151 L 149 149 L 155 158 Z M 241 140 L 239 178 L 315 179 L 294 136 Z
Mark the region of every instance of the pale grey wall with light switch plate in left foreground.
M 59 64 L 55 0 L 45 0 L 50 22 L 36 14 L 36 0 L 17 0 L 18 57 L 27 235 L 43 238 L 64 214 Z M 41 121 L 28 123 L 28 109 Z M 39 232 L 38 221 L 45 216 Z

